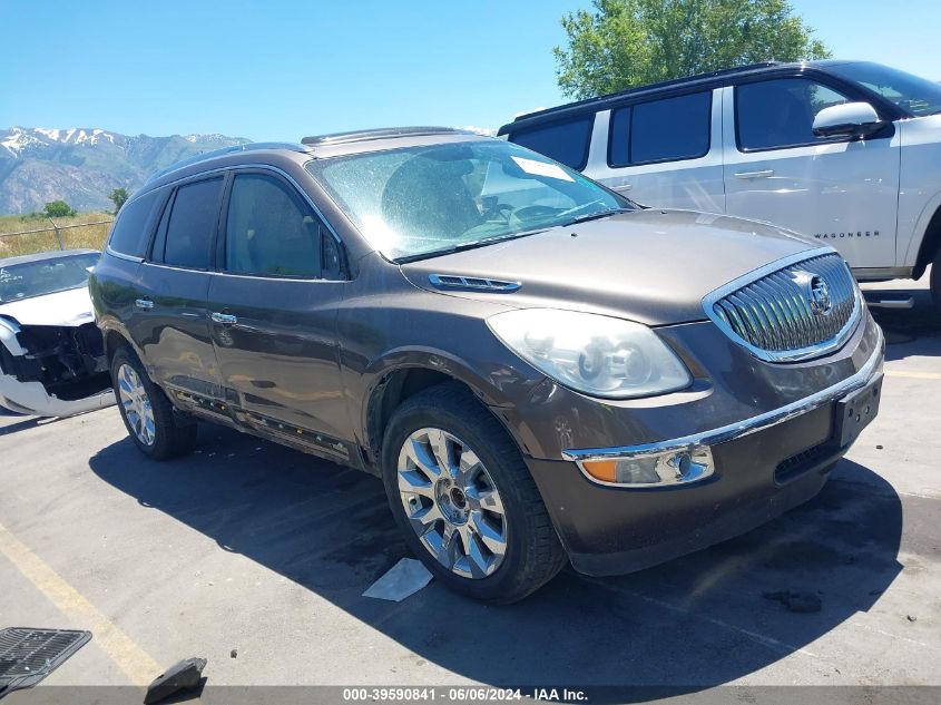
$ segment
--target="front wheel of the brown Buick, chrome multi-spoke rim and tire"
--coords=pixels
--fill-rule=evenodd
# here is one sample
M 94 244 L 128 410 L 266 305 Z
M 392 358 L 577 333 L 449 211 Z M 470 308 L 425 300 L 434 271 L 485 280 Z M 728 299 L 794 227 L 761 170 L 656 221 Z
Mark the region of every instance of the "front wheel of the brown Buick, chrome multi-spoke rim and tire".
M 432 444 L 442 442 L 449 460 L 437 462 Z M 450 473 L 428 472 L 443 464 Z M 382 476 L 409 548 L 457 593 L 514 603 L 568 562 L 519 449 L 461 384 L 430 388 L 395 410 Z

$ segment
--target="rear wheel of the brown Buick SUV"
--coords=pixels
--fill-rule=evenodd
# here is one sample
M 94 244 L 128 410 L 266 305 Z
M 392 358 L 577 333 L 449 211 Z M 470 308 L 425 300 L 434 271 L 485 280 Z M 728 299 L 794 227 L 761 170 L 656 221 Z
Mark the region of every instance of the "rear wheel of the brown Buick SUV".
M 196 423 L 180 421 L 164 391 L 127 347 L 111 358 L 111 384 L 127 433 L 154 460 L 188 453 L 196 445 Z

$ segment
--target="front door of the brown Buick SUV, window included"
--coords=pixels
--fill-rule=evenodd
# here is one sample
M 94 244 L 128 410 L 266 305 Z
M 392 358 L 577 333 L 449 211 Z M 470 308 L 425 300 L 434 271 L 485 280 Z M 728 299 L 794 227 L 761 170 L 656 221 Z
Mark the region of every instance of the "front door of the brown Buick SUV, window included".
M 297 187 L 272 169 L 234 174 L 209 286 L 222 383 L 248 423 L 347 452 L 336 317 L 342 248 Z

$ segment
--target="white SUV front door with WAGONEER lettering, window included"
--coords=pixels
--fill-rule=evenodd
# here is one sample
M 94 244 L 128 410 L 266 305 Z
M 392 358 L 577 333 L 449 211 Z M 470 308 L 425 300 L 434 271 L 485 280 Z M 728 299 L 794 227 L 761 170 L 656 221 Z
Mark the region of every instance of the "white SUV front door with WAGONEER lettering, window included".
M 864 140 L 815 137 L 814 116 L 854 98 L 807 78 L 725 90 L 727 213 L 833 245 L 854 268 L 894 265 L 898 130 Z

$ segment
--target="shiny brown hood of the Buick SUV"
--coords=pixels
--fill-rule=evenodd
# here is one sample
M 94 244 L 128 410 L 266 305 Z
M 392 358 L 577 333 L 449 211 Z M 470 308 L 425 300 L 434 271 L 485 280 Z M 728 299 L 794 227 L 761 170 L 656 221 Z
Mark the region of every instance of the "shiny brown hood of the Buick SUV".
M 702 321 L 703 297 L 820 244 L 773 225 L 644 209 L 402 265 L 421 288 L 511 307 L 595 311 L 647 325 Z M 513 293 L 434 286 L 429 275 L 519 282 Z

